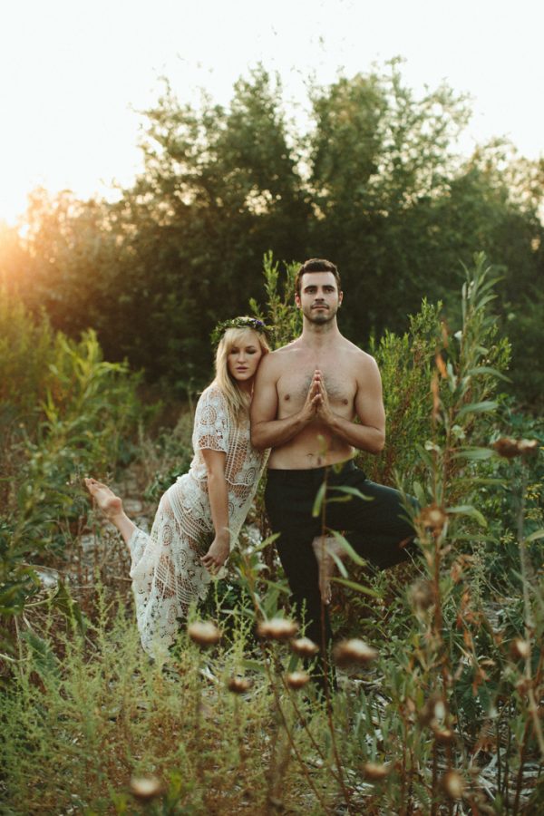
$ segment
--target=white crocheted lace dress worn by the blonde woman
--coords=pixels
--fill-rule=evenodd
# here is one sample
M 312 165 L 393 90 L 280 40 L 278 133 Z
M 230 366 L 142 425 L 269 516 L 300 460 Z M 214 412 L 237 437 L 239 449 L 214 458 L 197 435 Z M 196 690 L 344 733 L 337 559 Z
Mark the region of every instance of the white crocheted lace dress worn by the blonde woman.
M 197 404 L 189 472 L 162 496 L 148 535 L 135 529 L 129 541 L 132 590 L 141 645 L 151 656 L 166 656 L 189 604 L 208 594 L 211 577 L 200 558 L 214 537 L 208 473 L 201 451 L 225 452 L 231 548 L 238 538 L 267 455 L 249 438 L 249 418 L 235 423 L 225 397 L 211 384 Z

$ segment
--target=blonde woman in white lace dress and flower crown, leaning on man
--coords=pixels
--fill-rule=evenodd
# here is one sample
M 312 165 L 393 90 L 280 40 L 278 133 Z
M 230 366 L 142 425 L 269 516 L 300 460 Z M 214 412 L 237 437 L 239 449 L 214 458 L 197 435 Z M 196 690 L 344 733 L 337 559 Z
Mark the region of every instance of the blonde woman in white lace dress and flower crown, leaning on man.
M 106 485 L 85 479 L 131 551 L 141 644 L 151 656 L 166 656 L 179 618 L 207 596 L 210 574 L 228 559 L 257 491 L 267 455 L 251 445 L 248 408 L 258 364 L 269 351 L 266 331 L 254 317 L 237 317 L 214 330 L 216 377 L 197 404 L 194 457 L 189 472 L 162 496 L 149 535 Z

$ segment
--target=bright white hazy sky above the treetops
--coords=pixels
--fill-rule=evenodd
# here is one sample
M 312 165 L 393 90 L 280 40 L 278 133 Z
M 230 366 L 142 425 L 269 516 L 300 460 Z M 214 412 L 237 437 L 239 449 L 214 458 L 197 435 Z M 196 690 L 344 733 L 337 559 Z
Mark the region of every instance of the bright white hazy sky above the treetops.
M 287 99 L 304 79 L 368 71 L 395 55 L 416 90 L 446 80 L 473 98 L 466 152 L 507 136 L 544 153 L 542 0 L 0 0 L 0 219 L 41 185 L 105 195 L 141 169 L 142 117 L 170 79 L 228 102 L 261 61 Z

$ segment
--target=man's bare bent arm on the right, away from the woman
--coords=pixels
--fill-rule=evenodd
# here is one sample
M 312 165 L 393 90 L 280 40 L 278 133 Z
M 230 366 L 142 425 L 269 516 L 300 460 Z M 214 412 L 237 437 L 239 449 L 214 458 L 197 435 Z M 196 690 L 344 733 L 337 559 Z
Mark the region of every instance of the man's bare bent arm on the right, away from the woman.
M 359 451 L 379 453 L 385 444 L 385 411 L 382 378 L 374 358 L 365 357 L 357 372 L 355 413 L 361 424 L 355 424 L 334 413 L 330 407 L 325 383 L 319 384 L 320 403 L 317 416 L 331 431 Z

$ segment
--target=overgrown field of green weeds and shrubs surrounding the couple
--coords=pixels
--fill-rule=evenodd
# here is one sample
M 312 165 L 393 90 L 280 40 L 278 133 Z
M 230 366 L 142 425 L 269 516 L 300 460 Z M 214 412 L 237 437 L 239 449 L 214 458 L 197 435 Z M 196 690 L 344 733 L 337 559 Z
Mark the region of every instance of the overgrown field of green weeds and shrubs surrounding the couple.
M 264 316 L 279 344 L 296 314 L 277 274 L 268 259 Z M 287 625 L 262 488 L 170 661 L 145 656 L 128 554 L 82 480 L 112 483 L 149 525 L 189 465 L 194 393 L 151 400 L 92 332 L 70 340 L 5 293 L 2 812 L 544 809 L 544 429 L 503 393 L 510 345 L 490 312 L 494 286 L 477 257 L 459 326 L 423 302 L 406 335 L 374 343 L 388 445 L 361 464 L 417 498 L 421 555 L 380 573 L 345 542 L 329 656 L 339 690 L 324 698 L 306 675 L 311 648 Z M 316 506 L 324 533 L 329 500 Z

